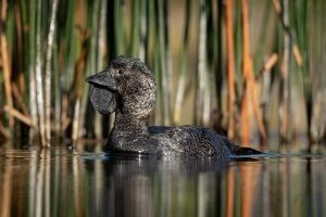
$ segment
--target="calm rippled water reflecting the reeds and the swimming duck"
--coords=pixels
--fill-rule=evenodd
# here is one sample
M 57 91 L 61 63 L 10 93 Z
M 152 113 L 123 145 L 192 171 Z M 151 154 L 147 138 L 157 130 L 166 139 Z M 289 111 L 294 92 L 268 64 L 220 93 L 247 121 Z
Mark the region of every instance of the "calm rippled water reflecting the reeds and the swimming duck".
M 234 162 L 0 146 L 0 216 L 326 216 L 326 155 Z

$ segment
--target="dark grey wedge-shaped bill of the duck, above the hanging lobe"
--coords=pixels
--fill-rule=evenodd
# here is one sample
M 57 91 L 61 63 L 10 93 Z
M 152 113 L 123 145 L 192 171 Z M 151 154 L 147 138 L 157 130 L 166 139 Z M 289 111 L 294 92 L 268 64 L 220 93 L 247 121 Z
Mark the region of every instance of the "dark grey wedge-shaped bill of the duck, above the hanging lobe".
M 114 78 L 108 71 L 100 72 L 86 78 L 86 81 L 98 88 L 104 88 L 111 91 L 116 90 Z

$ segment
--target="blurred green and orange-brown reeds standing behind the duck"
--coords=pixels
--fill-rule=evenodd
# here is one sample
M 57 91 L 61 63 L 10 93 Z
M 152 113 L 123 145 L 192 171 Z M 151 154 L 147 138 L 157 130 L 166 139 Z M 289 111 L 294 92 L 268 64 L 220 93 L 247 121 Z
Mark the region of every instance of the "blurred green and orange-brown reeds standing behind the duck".
M 326 133 L 326 3 L 1 0 L 0 137 L 102 139 L 85 77 L 125 54 L 159 88 L 152 124 L 197 124 L 248 145 Z M 35 140 L 36 139 L 36 140 Z M 309 146 L 311 148 L 311 146 Z

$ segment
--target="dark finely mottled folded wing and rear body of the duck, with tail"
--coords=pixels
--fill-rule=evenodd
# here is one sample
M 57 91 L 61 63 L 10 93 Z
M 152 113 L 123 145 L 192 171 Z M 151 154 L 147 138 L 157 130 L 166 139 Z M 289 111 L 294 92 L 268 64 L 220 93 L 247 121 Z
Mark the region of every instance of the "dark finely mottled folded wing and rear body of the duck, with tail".
M 152 137 L 156 138 L 162 146 L 171 152 L 189 155 L 214 156 L 225 158 L 229 155 L 252 155 L 261 152 L 251 148 L 242 148 L 234 144 L 224 136 L 214 130 L 197 127 L 165 127 L 154 126 L 149 128 Z

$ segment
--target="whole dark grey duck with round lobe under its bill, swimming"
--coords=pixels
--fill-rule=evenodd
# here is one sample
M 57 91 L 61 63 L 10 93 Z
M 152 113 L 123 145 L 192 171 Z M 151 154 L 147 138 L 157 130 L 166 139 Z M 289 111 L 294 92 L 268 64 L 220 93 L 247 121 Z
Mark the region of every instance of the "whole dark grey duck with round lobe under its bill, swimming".
M 95 108 L 101 114 L 115 111 L 109 138 L 111 151 L 216 158 L 260 153 L 235 145 L 203 127 L 148 127 L 148 116 L 155 106 L 156 85 L 151 71 L 137 59 L 118 56 L 109 68 L 86 81 L 92 85 L 90 100 Z

